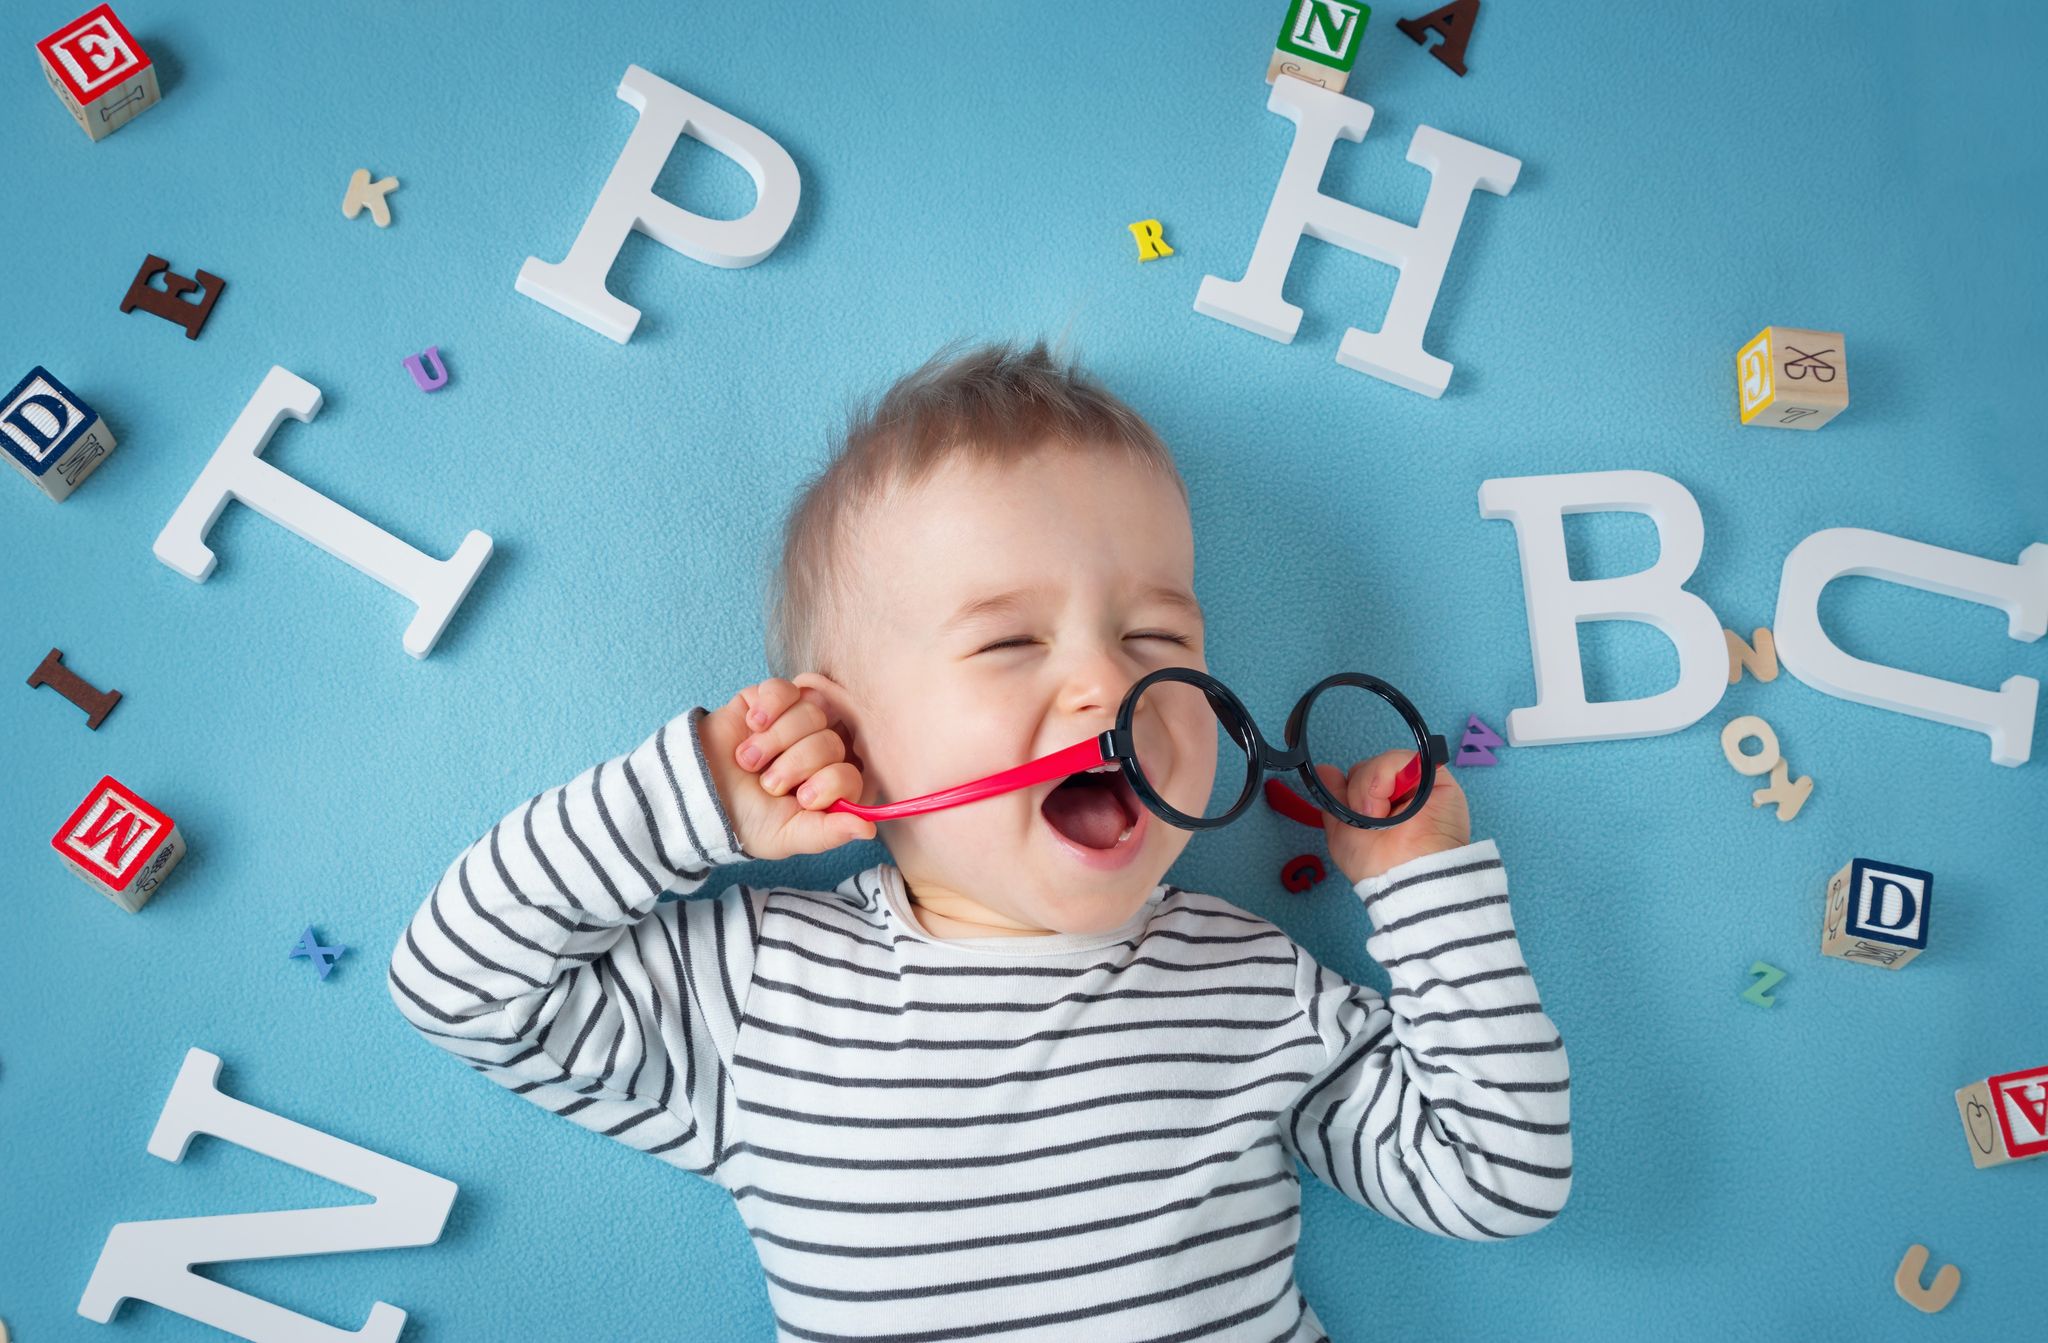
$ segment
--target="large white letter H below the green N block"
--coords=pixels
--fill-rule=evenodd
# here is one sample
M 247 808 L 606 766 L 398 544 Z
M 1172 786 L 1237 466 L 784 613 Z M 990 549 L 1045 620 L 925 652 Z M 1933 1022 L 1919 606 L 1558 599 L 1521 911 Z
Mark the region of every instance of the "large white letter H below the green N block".
M 1407 158 L 1430 170 L 1430 194 L 1423 199 L 1421 219 L 1407 225 L 1321 190 L 1323 168 L 1337 137 L 1366 137 L 1366 127 L 1372 125 L 1370 104 L 1288 78 L 1274 80 L 1266 106 L 1294 123 L 1294 145 L 1280 168 L 1280 184 L 1274 186 L 1245 278 L 1204 274 L 1194 311 L 1288 344 L 1300 330 L 1300 309 L 1280 295 L 1280 287 L 1294 264 L 1294 250 L 1303 237 L 1333 242 L 1401 270 L 1380 330 L 1346 330 L 1337 362 L 1425 397 L 1444 395 L 1450 364 L 1421 348 L 1423 330 L 1473 192 L 1485 188 L 1505 197 L 1522 174 L 1522 160 L 1436 127 L 1415 127 Z

